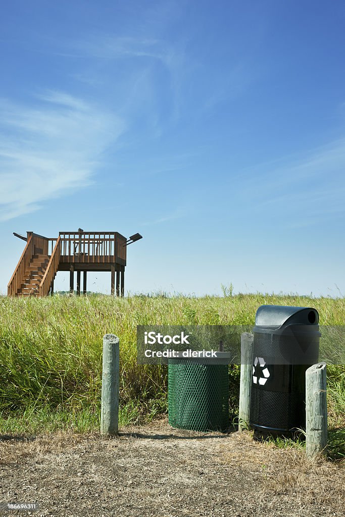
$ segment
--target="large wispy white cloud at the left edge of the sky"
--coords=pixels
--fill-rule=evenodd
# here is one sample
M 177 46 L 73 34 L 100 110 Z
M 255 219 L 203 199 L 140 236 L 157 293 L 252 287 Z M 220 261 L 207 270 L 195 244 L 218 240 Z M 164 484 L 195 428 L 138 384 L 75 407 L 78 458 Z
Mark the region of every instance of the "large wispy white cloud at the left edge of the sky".
M 101 154 L 124 120 L 64 92 L 33 99 L 35 108 L 0 100 L 0 221 L 90 185 Z

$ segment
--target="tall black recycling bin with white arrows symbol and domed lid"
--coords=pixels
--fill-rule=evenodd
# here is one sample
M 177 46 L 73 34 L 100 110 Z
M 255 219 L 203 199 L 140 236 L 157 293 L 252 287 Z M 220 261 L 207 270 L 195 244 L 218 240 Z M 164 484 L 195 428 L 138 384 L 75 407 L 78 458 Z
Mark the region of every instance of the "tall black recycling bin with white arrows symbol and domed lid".
M 305 372 L 319 360 L 319 314 L 262 305 L 255 323 L 249 424 L 256 438 L 291 437 L 305 429 Z

